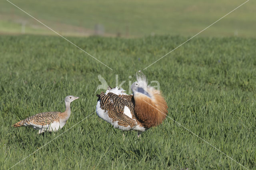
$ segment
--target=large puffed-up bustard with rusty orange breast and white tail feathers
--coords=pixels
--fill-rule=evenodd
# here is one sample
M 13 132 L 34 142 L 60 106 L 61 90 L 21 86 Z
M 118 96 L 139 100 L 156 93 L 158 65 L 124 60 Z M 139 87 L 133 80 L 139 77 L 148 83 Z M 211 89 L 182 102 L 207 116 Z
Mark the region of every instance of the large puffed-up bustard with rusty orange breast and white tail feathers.
M 141 132 L 162 123 L 168 107 L 160 91 L 150 87 L 142 73 L 136 78 L 131 87 L 132 95 L 118 87 L 108 87 L 106 93 L 97 95 L 96 113 L 114 128 L 138 131 L 139 137 Z

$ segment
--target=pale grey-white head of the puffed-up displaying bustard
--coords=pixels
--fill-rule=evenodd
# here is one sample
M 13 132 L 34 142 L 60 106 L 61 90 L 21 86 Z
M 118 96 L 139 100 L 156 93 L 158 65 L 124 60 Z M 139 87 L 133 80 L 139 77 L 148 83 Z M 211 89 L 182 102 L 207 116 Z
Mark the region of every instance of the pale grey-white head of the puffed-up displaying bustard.
M 136 79 L 134 83 L 132 83 L 132 93 L 134 96 L 136 95 L 145 95 L 149 98 L 152 97 L 150 94 L 150 86 L 148 86 L 148 81 L 146 79 L 146 76 L 143 73 L 136 74 Z

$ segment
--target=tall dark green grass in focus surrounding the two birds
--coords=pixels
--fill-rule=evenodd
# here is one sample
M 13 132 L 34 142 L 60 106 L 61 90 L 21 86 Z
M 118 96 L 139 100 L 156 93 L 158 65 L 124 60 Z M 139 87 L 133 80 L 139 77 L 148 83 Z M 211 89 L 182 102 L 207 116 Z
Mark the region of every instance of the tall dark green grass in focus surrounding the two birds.
M 136 71 L 187 37 L 69 39 L 114 71 L 59 37 L 0 36 L 1 169 L 51 140 L 13 169 L 243 169 L 169 118 L 139 140 L 136 132 L 124 132 L 123 140 L 96 113 L 84 119 L 95 111 L 98 74 L 111 86 L 118 74 L 128 90 Z M 194 38 L 144 70 L 160 82 L 172 119 L 249 169 L 256 169 L 255 42 Z M 80 99 L 58 132 L 11 127 L 39 112 L 64 111 L 67 95 Z

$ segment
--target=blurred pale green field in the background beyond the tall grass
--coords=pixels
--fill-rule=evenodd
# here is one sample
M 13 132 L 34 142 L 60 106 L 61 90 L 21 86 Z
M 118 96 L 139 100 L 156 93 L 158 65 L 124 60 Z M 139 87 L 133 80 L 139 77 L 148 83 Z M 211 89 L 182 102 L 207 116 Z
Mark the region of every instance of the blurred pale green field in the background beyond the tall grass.
M 11 0 L 53 30 L 64 35 L 94 34 L 96 24 L 102 24 L 106 36 L 138 37 L 156 35 L 194 36 L 246 0 L 174 1 L 174 0 Z M 255 37 L 256 2 L 251 0 L 232 12 L 200 36 Z M 0 2 L 0 32 L 54 34 L 36 20 L 4 0 Z M 36 30 L 38 29 L 38 30 Z

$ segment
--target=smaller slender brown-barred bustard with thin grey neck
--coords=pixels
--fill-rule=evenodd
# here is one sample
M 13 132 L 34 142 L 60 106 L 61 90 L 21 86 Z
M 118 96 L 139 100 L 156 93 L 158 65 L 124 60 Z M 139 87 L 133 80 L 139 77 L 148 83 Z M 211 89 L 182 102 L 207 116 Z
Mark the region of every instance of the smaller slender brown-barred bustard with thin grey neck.
M 64 127 L 71 114 L 70 103 L 79 97 L 67 96 L 65 98 L 66 110 L 64 112 L 44 112 L 38 113 L 34 116 L 28 117 L 18 123 L 12 125 L 13 127 L 28 126 L 33 127 L 38 131 L 38 134 L 49 131 L 56 132 Z

